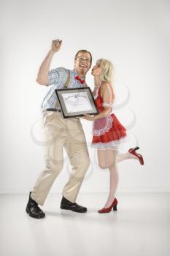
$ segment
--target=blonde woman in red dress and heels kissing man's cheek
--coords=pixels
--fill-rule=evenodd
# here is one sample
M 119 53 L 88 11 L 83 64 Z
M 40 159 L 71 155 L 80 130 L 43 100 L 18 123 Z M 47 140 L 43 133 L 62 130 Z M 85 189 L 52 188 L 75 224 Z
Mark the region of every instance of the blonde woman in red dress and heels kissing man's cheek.
M 97 148 L 98 165 L 101 168 L 109 168 L 110 188 L 107 202 L 99 213 L 107 213 L 117 210 L 117 199 L 115 192 L 118 184 L 117 162 L 125 159 L 139 159 L 141 165 L 144 160 L 141 154 L 137 154 L 136 148 L 130 148 L 125 154 L 117 154 L 118 146 L 126 139 L 126 129 L 120 124 L 117 117 L 112 112 L 112 103 L 115 94 L 112 88 L 113 66 L 106 59 L 99 59 L 93 67 L 91 74 L 94 76 L 95 89 L 93 97 L 95 99 L 98 112 L 97 116 L 85 115 L 85 119 L 93 122 L 92 146 Z

